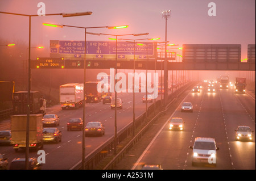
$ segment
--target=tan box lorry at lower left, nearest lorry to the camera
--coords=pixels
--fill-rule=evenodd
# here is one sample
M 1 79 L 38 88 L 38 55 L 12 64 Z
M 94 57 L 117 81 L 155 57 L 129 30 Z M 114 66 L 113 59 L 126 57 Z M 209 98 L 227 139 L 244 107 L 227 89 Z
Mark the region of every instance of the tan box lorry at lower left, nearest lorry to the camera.
M 30 115 L 29 148 L 43 148 L 43 115 Z M 11 116 L 11 145 L 15 151 L 26 149 L 27 115 Z

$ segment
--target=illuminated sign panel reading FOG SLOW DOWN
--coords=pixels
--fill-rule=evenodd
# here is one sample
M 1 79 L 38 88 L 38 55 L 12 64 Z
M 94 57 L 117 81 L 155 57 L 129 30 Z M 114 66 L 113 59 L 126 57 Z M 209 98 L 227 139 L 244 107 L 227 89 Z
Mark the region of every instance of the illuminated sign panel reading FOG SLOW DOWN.
M 64 58 L 61 57 L 39 57 L 34 62 L 32 68 L 37 69 L 63 69 Z

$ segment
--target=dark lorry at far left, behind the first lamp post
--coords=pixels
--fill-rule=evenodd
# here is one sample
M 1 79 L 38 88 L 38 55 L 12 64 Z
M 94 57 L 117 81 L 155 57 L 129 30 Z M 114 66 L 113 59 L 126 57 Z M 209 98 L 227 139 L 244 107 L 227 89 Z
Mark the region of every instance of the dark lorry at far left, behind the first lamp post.
M 13 93 L 14 115 L 27 114 L 27 91 Z M 46 114 L 46 100 L 39 91 L 30 91 L 30 114 Z

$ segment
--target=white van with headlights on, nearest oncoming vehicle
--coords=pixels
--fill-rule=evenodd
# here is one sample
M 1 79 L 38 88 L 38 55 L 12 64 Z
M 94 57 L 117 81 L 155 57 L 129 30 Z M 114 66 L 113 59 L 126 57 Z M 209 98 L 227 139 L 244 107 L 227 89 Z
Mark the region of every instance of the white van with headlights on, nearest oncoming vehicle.
M 216 166 L 217 154 L 219 148 L 216 146 L 214 138 L 210 137 L 196 137 L 193 146 L 189 146 L 193 150 L 192 166 L 196 163 L 213 164 Z

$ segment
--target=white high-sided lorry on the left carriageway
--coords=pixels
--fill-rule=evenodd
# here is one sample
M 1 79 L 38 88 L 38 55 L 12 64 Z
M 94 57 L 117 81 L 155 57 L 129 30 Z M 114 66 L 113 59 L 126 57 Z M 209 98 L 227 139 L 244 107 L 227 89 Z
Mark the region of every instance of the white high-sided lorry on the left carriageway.
M 60 86 L 60 107 L 79 108 L 84 103 L 84 84 L 67 83 Z

